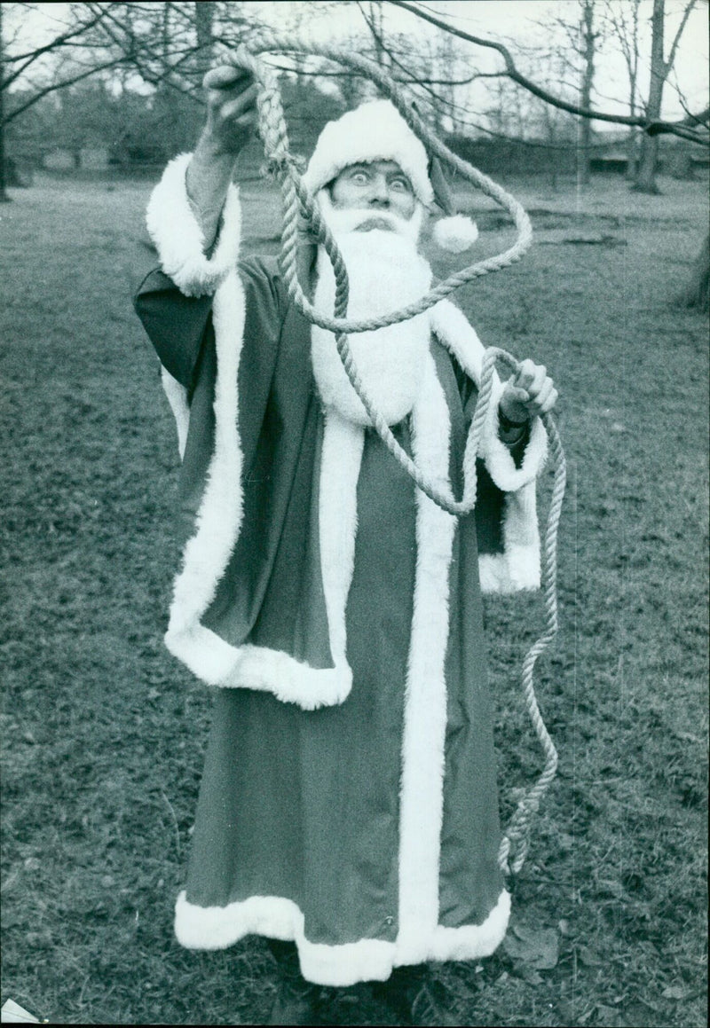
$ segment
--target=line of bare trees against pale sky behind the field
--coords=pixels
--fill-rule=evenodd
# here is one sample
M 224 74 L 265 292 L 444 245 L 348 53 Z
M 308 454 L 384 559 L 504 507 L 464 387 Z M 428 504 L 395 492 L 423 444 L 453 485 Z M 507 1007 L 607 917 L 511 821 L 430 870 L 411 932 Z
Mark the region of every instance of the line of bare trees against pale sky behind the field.
M 488 154 L 494 142 L 508 148 L 499 145 L 499 154 L 524 144 L 526 167 L 546 162 L 553 170 L 570 170 L 563 156 L 571 157 L 571 170 L 583 183 L 604 138 L 593 131 L 593 121 L 605 122 L 614 127 L 614 149 L 626 148 L 633 186 L 654 192 L 661 136 L 683 141 L 679 149 L 686 164 L 694 149 L 707 156 L 708 110 L 690 109 L 673 79 L 678 44 L 697 3 L 678 0 L 669 11 L 667 0 L 652 0 L 649 37 L 642 24 L 648 5 L 642 7 L 642 0 L 574 0 L 553 8 L 542 26 L 549 43 L 534 47 L 475 36 L 437 12 L 443 8 L 409 0 L 304 0 L 280 4 L 278 11 L 279 30 L 298 32 L 336 8 L 356 8 L 362 28 L 341 42 L 404 83 L 420 113 L 474 162 L 483 162 L 476 158 L 485 141 Z M 204 117 L 205 71 L 268 27 L 255 19 L 253 4 L 226 0 L 82 2 L 63 5 L 55 15 L 56 33 L 41 45 L 24 46 L 23 15 L 51 6 L 0 4 L 0 198 L 6 196 L 12 160 L 39 166 L 52 149 L 72 154 L 78 167 L 87 148 L 104 148 L 111 162 L 125 168 L 161 163 L 188 149 Z M 392 29 L 395 6 L 410 13 L 412 31 Z M 401 25 L 401 17 L 397 21 Z M 625 115 L 605 111 L 597 89 L 600 54 L 611 48 L 626 68 Z M 480 54 L 491 50 L 498 69 L 476 70 Z M 349 69 L 319 58 L 271 60 L 285 72 L 289 131 L 301 152 L 326 120 L 374 90 Z M 642 96 L 644 65 L 650 75 Z M 483 110 L 471 111 L 469 90 L 477 79 L 487 80 L 488 100 Z M 685 111 L 675 121 L 661 116 L 669 87 Z M 626 130 L 622 136 L 619 126 Z

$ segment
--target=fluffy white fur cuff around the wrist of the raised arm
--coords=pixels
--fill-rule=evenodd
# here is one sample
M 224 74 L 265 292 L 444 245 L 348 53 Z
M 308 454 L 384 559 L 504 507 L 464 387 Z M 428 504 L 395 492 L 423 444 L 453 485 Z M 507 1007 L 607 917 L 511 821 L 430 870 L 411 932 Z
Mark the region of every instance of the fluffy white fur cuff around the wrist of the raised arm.
M 185 187 L 185 172 L 191 157 L 191 153 L 182 153 L 170 161 L 150 195 L 146 225 L 164 272 L 185 296 L 205 296 L 214 293 L 237 263 L 242 212 L 239 189 L 230 185 L 217 246 L 212 256 L 207 257 L 202 228 Z

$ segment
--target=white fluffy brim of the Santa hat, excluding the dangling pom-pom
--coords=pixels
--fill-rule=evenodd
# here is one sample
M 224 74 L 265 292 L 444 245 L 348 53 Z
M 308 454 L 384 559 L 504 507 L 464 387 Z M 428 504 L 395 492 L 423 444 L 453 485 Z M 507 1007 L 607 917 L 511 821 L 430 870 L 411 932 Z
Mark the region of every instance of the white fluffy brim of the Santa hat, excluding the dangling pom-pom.
M 394 160 L 410 179 L 417 198 L 425 207 L 433 201 L 424 144 L 389 100 L 371 100 L 328 121 L 318 137 L 304 184 L 316 193 L 344 168 L 372 160 Z

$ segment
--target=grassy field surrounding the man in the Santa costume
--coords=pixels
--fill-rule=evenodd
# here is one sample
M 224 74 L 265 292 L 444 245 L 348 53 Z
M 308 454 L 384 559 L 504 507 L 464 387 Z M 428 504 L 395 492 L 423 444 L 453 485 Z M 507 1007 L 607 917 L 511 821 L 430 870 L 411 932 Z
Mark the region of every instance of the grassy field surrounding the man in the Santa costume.
M 441 967 L 465 1025 L 707 1023 L 707 324 L 674 303 L 707 184 L 518 183 L 537 246 L 467 287 L 480 334 L 559 382 L 561 757 L 506 947 Z M 2 999 L 72 1024 L 263 1020 L 263 945 L 173 939 L 210 696 L 164 651 L 178 466 L 131 294 L 144 183 L 40 181 L 2 225 Z M 278 212 L 245 189 L 250 246 Z M 509 240 L 476 205 L 476 256 Z M 439 270 L 445 270 L 441 266 Z M 8 460 L 9 458 L 9 460 Z M 517 674 L 539 598 L 488 612 L 504 812 L 540 757 Z M 521 631 L 521 625 L 523 631 Z M 381 1024 L 366 995 L 334 1023 Z

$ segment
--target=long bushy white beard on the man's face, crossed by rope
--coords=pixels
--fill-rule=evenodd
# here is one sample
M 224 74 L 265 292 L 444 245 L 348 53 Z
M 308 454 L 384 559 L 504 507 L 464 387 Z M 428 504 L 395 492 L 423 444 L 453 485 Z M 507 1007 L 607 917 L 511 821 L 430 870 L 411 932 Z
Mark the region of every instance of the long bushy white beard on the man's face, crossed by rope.
M 431 267 L 417 253 L 416 245 L 421 213 L 404 222 L 387 213 L 336 211 L 327 200 L 323 203 L 321 196 L 319 200 L 348 269 L 348 319 L 377 318 L 407 306 L 428 292 Z M 372 217 L 383 217 L 395 231 L 353 230 Z M 315 306 L 332 314 L 335 279 L 322 247 L 318 251 L 317 272 Z M 426 367 L 429 340 L 428 311 L 397 325 L 348 337 L 365 391 L 388 425 L 396 425 L 414 406 Z M 343 367 L 333 333 L 314 325 L 311 341 L 313 371 L 323 403 L 350 421 L 370 426 L 369 415 Z

